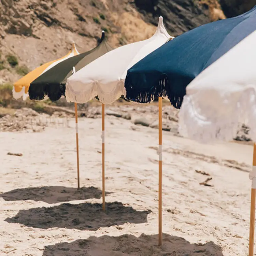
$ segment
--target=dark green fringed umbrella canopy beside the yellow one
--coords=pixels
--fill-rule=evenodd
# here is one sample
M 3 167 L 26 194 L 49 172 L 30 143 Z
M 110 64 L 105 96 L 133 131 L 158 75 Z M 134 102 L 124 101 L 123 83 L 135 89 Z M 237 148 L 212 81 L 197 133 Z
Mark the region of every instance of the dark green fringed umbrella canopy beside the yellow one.
M 65 95 L 66 81 L 72 75 L 73 67 L 78 71 L 111 50 L 102 31 L 100 43 L 94 49 L 61 61 L 35 79 L 29 87 L 30 99 L 42 100 L 48 96 L 53 101 L 58 100 Z

